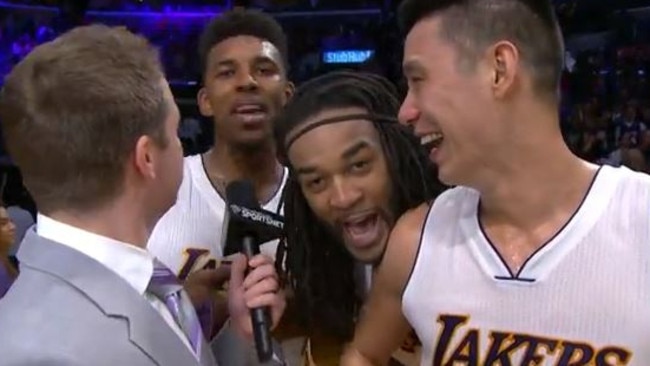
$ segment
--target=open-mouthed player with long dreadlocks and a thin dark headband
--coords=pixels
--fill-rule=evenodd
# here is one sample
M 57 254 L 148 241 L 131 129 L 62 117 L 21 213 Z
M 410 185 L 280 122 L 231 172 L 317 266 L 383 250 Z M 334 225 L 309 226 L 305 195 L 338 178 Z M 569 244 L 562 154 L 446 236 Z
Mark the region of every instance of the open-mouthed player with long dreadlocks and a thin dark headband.
M 391 228 L 443 189 L 424 149 L 413 148 L 416 137 L 398 123 L 398 110 L 388 80 L 339 71 L 303 84 L 276 121 L 280 156 L 290 167 L 291 228 L 278 260 L 295 294 L 278 337 L 299 338 L 292 358 L 285 349 L 288 360 L 301 359 L 296 364 L 338 365 Z M 394 362 L 415 365 L 417 351 L 409 344 Z

